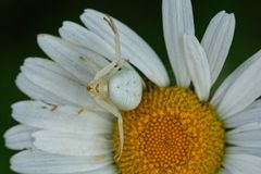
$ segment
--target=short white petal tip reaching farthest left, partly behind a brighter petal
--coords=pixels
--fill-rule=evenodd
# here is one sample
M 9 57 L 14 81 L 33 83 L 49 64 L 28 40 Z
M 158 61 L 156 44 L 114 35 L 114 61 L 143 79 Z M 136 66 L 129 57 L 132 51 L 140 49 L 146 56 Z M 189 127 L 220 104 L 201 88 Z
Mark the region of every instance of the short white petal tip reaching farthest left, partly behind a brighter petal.
M 25 125 L 16 125 L 11 127 L 4 134 L 5 146 L 13 150 L 22 150 L 33 147 L 32 134 L 36 128 Z

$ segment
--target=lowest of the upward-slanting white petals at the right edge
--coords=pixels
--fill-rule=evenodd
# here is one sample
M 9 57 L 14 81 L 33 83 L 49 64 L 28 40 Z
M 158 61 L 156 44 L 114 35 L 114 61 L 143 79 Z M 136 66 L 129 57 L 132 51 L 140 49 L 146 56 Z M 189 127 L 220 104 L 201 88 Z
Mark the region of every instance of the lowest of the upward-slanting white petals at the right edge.
M 239 113 L 224 120 L 225 127 L 237 127 L 252 122 L 261 122 L 261 100 L 254 101 Z

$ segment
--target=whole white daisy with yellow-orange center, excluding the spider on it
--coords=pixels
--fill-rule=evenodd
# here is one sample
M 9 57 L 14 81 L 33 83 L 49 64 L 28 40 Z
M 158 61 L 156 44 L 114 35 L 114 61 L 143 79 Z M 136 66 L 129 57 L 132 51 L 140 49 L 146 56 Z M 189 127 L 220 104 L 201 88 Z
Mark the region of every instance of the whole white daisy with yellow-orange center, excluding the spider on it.
M 198 41 L 190 0 L 163 0 L 162 12 L 175 85 L 170 85 L 160 59 L 135 32 L 113 20 L 120 34 L 117 45 L 117 32 L 113 33 L 103 20 L 105 15 L 95 10 L 86 10 L 80 16 L 86 27 L 64 22 L 61 38 L 38 36 L 40 48 L 52 61 L 28 58 L 17 76 L 17 86 L 32 100 L 12 105 L 12 116 L 20 125 L 5 133 L 5 145 L 22 150 L 11 159 L 13 171 L 261 173 L 261 52 L 234 71 L 212 95 L 211 87 L 233 40 L 234 14 L 217 13 Z M 115 58 L 127 60 L 122 70 L 134 71 L 132 64 L 147 77 L 137 85 L 150 84 L 137 108 L 121 111 L 122 123 L 119 115 L 115 119 L 119 113 L 110 110 L 122 109 L 115 103 L 122 96 L 91 95 L 88 90 L 97 74 Z M 116 71 L 99 82 L 110 83 L 123 72 L 112 70 Z M 124 76 L 116 79 L 123 84 L 127 80 Z M 109 102 L 100 102 L 99 97 Z M 107 103 L 109 110 L 103 105 Z M 121 127 L 124 146 L 121 158 L 114 158 L 122 145 Z

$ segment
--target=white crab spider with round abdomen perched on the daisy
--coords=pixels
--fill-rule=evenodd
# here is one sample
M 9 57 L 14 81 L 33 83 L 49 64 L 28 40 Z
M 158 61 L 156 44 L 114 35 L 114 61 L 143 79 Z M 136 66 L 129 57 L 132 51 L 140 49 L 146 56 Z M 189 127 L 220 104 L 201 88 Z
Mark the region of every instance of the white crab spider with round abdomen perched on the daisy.
M 142 82 L 137 72 L 125 66 L 127 62 L 121 57 L 120 36 L 112 17 L 105 15 L 104 20 L 115 35 L 115 59 L 96 73 L 95 78 L 88 84 L 87 90 L 101 108 L 117 117 L 120 134 L 117 156 L 121 158 L 124 132 L 120 110 L 133 110 L 139 104 L 142 96 Z

